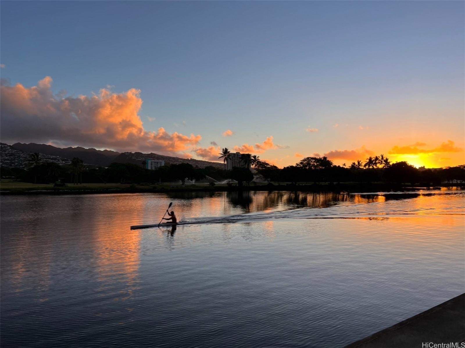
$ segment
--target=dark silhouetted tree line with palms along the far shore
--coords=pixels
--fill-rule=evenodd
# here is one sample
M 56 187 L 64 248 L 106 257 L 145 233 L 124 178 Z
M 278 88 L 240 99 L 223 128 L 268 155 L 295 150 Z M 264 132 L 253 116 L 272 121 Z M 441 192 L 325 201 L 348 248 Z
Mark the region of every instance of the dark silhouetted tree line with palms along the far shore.
M 320 183 L 397 183 L 421 184 L 424 186 L 441 183 L 463 184 L 465 182 L 465 165 L 446 167 L 439 170 L 419 170 L 407 162 L 391 163 L 384 155 L 369 157 L 364 162 L 352 162 L 349 166 L 335 165 L 326 157 L 306 157 L 295 165 L 279 169 L 277 166 L 260 160 L 259 156 L 243 154 L 241 161 L 244 167 L 226 170 L 229 158 L 227 148 L 220 154 L 224 160 L 224 170 L 213 166 L 194 168 L 192 164 L 181 163 L 148 170 L 141 165 L 129 163 L 112 163 L 108 167 L 86 166 L 80 158 L 73 158 L 71 164 L 59 165 L 53 162 L 42 162 L 40 154 L 30 157 L 27 169 L 1 168 L 2 177 L 15 177 L 20 181 L 48 184 L 61 179 L 68 184 L 82 183 L 120 183 L 120 184 L 156 184 L 180 180 L 185 184 L 188 180 L 225 181 L 234 179 L 239 186 L 250 184 L 254 174 L 247 167 L 250 165 L 255 174 L 259 174 L 268 183 L 280 184 L 320 184 Z M 226 159 L 225 159 L 226 158 Z

